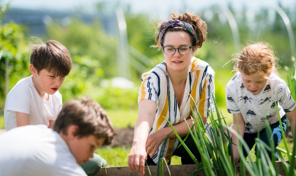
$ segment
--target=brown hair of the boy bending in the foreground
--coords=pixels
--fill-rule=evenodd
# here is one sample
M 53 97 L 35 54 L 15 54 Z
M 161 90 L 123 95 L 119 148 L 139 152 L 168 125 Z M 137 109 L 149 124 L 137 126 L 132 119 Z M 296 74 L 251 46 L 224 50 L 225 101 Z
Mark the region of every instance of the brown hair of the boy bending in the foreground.
M 82 138 L 94 135 L 97 139 L 105 138 L 103 145 L 111 144 L 114 128 L 106 112 L 97 102 L 84 97 L 81 101 L 71 100 L 64 104 L 54 130 L 67 134 L 70 125 L 77 125 L 76 136 Z

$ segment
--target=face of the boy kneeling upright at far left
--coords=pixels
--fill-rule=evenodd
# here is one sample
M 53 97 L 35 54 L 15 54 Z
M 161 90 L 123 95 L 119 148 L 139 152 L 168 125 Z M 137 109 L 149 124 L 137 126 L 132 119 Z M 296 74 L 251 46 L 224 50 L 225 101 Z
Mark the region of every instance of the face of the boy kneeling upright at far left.
M 48 72 L 45 69 L 37 73 L 36 69 L 33 68 L 33 71 L 31 69 L 31 73 L 33 75 L 34 85 L 41 97 L 44 96 L 45 93 L 49 95 L 56 93 L 62 86 L 65 79 L 64 76 L 56 76 L 54 73 Z

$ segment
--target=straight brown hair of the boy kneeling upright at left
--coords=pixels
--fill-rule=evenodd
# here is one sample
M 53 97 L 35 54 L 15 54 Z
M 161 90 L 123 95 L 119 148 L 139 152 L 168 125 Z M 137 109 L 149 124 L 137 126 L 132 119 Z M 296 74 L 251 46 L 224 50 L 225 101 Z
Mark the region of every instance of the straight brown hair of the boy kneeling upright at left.
M 37 73 L 43 69 L 53 72 L 56 76 L 67 76 L 72 68 L 72 59 L 69 51 L 60 42 L 48 40 L 45 43 L 31 44 L 32 53 L 30 63 Z

